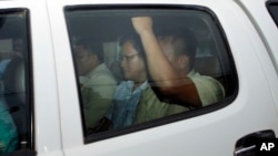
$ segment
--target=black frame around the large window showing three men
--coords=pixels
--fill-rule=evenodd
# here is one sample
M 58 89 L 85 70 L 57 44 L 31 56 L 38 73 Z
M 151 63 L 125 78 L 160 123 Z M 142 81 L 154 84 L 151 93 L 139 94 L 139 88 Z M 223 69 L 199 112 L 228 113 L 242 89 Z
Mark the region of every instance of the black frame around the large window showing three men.
M 68 38 L 70 39 L 70 29 L 69 29 L 69 22 L 67 20 L 67 13 L 70 11 L 86 11 L 86 10 L 112 10 L 112 9 L 117 9 L 117 10 L 136 10 L 136 9 L 150 9 L 151 11 L 155 11 L 157 9 L 162 10 L 162 9 L 168 9 L 168 10 L 198 10 L 198 11 L 202 11 L 207 14 L 209 14 L 214 21 L 215 21 L 215 27 L 218 30 L 219 33 L 219 38 L 222 40 L 222 46 L 225 46 L 226 51 L 227 51 L 227 59 L 230 63 L 230 72 L 232 73 L 232 94 L 228 97 L 225 97 L 224 100 L 221 100 L 220 102 L 217 102 L 216 104 L 211 105 L 211 106 L 206 106 L 200 110 L 196 110 L 196 111 L 190 111 L 187 113 L 180 113 L 180 114 L 176 114 L 172 116 L 167 116 L 167 117 L 162 117 L 162 118 L 157 118 L 150 122 L 145 122 L 141 124 L 136 124 L 136 125 L 131 125 L 121 129 L 117 129 L 117 131 L 107 131 L 107 132 L 102 132 L 102 133 L 97 133 L 97 134 L 92 134 L 92 135 L 88 135 L 86 136 L 85 134 L 85 118 L 83 118 L 83 113 L 82 110 L 80 110 L 81 112 L 81 121 L 82 121 L 82 129 L 83 129 L 83 143 L 85 144 L 90 144 L 90 143 L 95 143 L 98 141 L 102 141 L 106 138 L 112 138 L 116 136 L 120 136 L 120 135 L 126 135 L 126 134 L 130 134 L 130 133 L 135 133 L 135 132 L 140 132 L 143 129 L 148 129 L 148 128 L 152 128 L 152 127 L 157 127 L 157 126 L 163 126 L 167 124 L 171 124 L 175 122 L 179 122 L 182 119 L 187 119 L 187 118 L 191 118 L 191 117 L 196 117 L 196 116 L 200 116 L 207 113 L 212 113 L 214 111 L 224 108 L 226 106 L 228 106 L 229 104 L 231 104 L 237 95 L 238 95 L 238 90 L 239 90 L 239 83 L 238 83 L 238 74 L 237 74 L 237 70 L 236 70 L 236 65 L 235 65 L 235 61 L 234 61 L 234 56 L 231 54 L 231 50 L 229 46 L 229 42 L 228 39 L 225 34 L 225 31 L 221 27 L 221 23 L 219 22 L 217 15 L 214 13 L 214 11 L 211 11 L 209 8 L 207 7 L 202 7 L 202 6 L 188 6 L 188 4 L 77 4 L 77 6 L 66 6 L 63 8 L 63 14 L 64 14 L 64 19 L 66 19 L 66 23 L 67 23 L 67 32 L 68 32 Z M 135 11 L 137 12 L 137 11 Z M 138 11 L 139 13 L 132 13 L 132 15 L 142 15 L 143 13 L 141 13 L 140 11 Z M 129 14 L 130 15 L 130 14 Z M 131 17 L 131 15 L 130 15 Z M 73 51 L 72 48 L 72 43 L 70 42 L 71 45 L 71 51 Z M 72 58 L 72 62 L 76 65 L 76 61 Z M 78 75 L 77 75 L 77 71 L 75 67 L 75 74 L 76 74 L 76 80 L 77 80 L 77 89 L 79 89 L 78 85 Z M 80 104 L 80 108 L 81 104 L 82 104 L 82 95 L 81 95 L 81 91 L 78 90 L 78 96 L 79 96 L 79 104 Z

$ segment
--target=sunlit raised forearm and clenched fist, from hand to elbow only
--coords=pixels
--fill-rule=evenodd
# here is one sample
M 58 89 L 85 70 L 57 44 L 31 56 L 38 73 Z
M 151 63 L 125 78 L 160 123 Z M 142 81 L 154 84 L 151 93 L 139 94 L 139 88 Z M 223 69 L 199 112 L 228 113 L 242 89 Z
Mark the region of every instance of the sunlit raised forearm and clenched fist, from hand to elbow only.
M 161 87 L 175 86 L 173 80 L 179 75 L 162 53 L 152 30 L 152 20 L 149 17 L 132 18 L 133 27 L 141 38 L 147 55 L 151 77 Z M 159 69 L 159 70 L 158 70 Z M 180 85 L 180 84 L 177 84 Z

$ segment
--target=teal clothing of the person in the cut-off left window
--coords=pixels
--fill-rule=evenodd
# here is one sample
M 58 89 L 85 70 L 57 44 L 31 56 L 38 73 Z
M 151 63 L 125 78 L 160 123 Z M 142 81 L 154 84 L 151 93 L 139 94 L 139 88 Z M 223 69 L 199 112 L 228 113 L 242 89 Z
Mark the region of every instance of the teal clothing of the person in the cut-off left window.
M 3 98 L 0 98 L 0 155 L 14 152 L 18 132 Z

